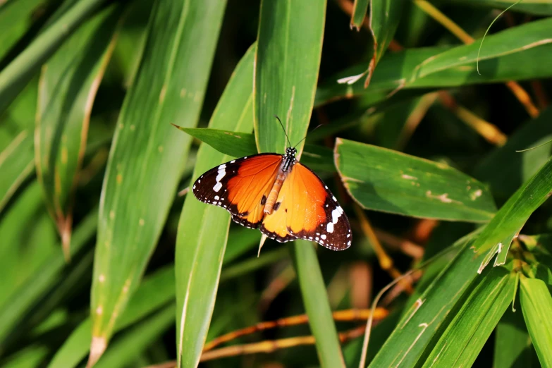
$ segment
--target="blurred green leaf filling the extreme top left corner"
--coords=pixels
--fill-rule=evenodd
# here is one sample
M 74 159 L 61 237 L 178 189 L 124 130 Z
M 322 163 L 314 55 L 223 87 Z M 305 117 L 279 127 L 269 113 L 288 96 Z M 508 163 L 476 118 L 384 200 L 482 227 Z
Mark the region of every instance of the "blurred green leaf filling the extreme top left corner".
M 44 6 L 46 0 L 10 0 L 0 4 L 0 61 L 33 23 L 33 13 Z M 36 21 L 36 20 L 35 20 Z

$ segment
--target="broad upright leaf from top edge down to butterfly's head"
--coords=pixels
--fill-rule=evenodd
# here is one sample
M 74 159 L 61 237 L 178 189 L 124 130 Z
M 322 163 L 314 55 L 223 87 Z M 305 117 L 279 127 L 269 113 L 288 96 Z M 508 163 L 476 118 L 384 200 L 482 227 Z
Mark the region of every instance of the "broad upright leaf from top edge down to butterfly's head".
M 254 70 L 258 152 L 283 153 L 307 133 L 324 38 L 326 1 L 261 1 Z M 305 45 L 309 47 L 305 49 Z M 301 157 L 303 144 L 298 145 Z

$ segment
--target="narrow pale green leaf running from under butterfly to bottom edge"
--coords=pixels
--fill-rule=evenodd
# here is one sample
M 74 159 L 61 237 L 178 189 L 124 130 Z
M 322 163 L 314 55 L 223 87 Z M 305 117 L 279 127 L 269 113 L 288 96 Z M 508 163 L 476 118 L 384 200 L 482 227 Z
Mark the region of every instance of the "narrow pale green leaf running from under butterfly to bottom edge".
M 309 326 L 316 338 L 318 358 L 321 367 L 345 367 L 341 346 L 336 338 L 336 326 L 333 324 L 328 292 L 320 266 L 317 252 L 312 242 L 295 240 L 290 246 L 293 263 L 297 272 L 303 304 L 309 316 Z

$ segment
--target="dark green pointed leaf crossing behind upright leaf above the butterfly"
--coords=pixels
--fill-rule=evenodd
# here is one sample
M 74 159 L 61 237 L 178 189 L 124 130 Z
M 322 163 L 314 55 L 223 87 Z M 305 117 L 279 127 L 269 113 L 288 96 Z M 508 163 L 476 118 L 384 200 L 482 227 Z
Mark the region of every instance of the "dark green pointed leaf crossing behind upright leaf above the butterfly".
M 180 128 L 180 130 L 229 157 L 245 157 L 257 153 L 255 137 L 251 133 L 211 128 Z M 335 171 L 331 156 L 332 152 L 328 147 L 307 143 L 301 163 L 313 170 Z

